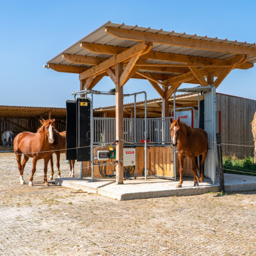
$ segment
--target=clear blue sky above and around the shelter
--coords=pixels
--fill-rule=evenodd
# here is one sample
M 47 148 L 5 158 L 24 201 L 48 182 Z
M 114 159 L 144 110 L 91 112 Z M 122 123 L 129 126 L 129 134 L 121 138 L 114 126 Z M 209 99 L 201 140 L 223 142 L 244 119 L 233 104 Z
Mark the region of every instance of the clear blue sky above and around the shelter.
M 57 73 L 43 65 L 109 20 L 254 43 L 255 7 L 256 1 L 234 0 L 0 0 L 0 105 L 65 107 L 66 99 L 79 90 L 78 75 Z M 255 79 L 256 67 L 233 70 L 217 92 L 256 99 Z M 104 77 L 94 88 L 113 87 L 112 80 Z M 144 90 L 148 99 L 158 98 L 147 81 L 131 79 L 124 86 L 124 93 Z M 112 97 L 94 99 L 94 107 L 114 104 Z

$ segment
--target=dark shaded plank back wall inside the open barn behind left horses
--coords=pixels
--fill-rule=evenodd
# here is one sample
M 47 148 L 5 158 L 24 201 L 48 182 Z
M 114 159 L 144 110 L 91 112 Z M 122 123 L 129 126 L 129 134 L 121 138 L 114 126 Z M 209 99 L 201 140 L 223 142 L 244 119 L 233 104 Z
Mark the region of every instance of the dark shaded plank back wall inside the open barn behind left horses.
M 5 130 L 11 130 L 15 136 L 20 132 L 37 132 L 40 126 L 39 118 L 0 118 L 1 134 Z M 55 128 L 59 132 L 66 130 L 66 118 L 55 118 Z

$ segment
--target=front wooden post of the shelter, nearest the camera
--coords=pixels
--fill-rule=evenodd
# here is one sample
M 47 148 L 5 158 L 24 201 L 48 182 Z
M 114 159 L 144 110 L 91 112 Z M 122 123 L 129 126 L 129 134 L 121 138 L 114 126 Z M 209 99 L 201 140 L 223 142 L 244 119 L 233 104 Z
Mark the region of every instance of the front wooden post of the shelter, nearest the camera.
M 123 163 L 123 148 L 124 148 L 124 127 L 123 127 L 123 87 L 120 85 L 120 76 L 123 73 L 123 64 L 116 64 L 116 184 L 124 183 L 124 163 Z

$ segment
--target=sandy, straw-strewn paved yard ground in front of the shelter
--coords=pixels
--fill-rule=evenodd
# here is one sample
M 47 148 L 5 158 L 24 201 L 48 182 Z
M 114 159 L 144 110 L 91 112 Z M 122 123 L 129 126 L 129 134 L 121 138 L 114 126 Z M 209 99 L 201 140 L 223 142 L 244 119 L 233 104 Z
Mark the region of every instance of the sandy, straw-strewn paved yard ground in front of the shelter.
M 256 255 L 255 191 L 116 201 L 44 187 L 42 160 L 34 187 L 32 159 L 25 185 L 13 153 L 0 163 L 0 255 Z

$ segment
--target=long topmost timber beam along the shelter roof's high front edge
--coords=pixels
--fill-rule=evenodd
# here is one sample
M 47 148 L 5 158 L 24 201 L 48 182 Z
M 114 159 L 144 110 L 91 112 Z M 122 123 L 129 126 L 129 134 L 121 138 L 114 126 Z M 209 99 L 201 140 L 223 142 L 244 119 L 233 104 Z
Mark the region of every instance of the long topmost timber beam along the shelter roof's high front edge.
M 236 44 L 218 43 L 214 41 L 197 40 L 194 38 L 176 37 L 174 35 L 155 34 L 138 30 L 122 29 L 119 27 L 105 27 L 107 34 L 116 38 L 134 41 L 152 41 L 154 43 L 203 49 L 207 51 L 227 52 L 233 54 L 249 54 L 256 56 L 256 48 L 239 46 Z

